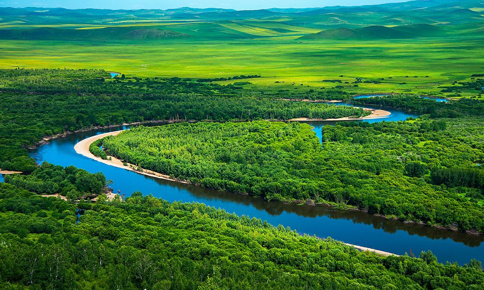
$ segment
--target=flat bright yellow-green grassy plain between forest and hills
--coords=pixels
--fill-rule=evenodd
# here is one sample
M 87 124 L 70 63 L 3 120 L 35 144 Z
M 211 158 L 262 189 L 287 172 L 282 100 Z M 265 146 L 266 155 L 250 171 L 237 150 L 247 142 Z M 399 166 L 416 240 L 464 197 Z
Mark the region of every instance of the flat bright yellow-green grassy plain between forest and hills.
M 484 72 L 483 44 L 480 37 L 378 41 L 175 39 L 97 43 L 2 40 L 0 68 L 102 68 L 145 77 L 259 74 L 263 78 L 251 82 L 270 89 L 303 90 L 308 89 L 307 86 L 314 89 L 342 85 L 344 90 L 355 93 L 435 94 L 440 92 L 437 88 L 440 85 L 469 80 L 472 74 Z M 360 83 L 353 87 L 351 82 L 357 77 L 381 83 Z M 324 79 L 341 79 L 349 84 L 322 82 Z M 477 93 L 463 92 L 463 96 Z

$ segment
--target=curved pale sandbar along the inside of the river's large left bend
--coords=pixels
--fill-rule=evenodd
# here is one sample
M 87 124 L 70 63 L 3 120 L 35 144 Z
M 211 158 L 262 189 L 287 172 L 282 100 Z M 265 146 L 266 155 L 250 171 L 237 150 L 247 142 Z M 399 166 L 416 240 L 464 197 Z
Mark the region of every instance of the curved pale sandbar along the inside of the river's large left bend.
M 148 175 L 148 176 L 156 177 L 156 178 L 160 178 L 160 179 L 172 180 L 172 181 L 177 181 L 177 182 L 182 182 L 182 183 L 189 183 L 186 180 L 176 179 L 176 178 L 173 178 L 169 175 L 161 174 L 161 173 L 158 173 L 158 172 L 155 172 L 155 171 L 152 171 L 152 170 L 148 170 L 148 169 L 136 170 L 135 169 L 137 167 L 136 165 L 129 164 L 129 163 L 127 163 L 127 165 L 124 165 L 122 160 L 120 160 L 120 159 L 118 159 L 114 156 L 109 156 L 109 157 L 111 157 L 111 160 L 104 160 L 100 157 L 94 156 L 89 151 L 89 146 L 94 141 L 97 141 L 97 140 L 102 139 L 102 138 L 107 137 L 107 136 L 116 136 L 121 132 L 123 132 L 123 130 L 104 133 L 104 134 L 89 137 L 87 139 L 80 141 L 76 145 L 74 145 L 74 150 L 78 154 L 84 155 L 86 157 L 89 157 L 91 159 L 94 159 L 96 161 L 102 162 L 102 163 L 107 164 L 107 165 L 111 165 L 111 166 L 118 167 L 118 168 L 123 168 L 123 169 L 126 169 L 126 170 L 138 172 L 138 173 L 143 174 L 143 175 Z

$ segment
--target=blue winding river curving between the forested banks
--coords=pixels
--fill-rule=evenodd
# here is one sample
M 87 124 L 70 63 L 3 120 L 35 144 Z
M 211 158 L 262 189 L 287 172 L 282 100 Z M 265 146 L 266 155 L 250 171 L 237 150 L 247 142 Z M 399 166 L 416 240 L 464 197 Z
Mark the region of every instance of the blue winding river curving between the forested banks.
M 344 103 L 339 105 L 348 106 Z M 378 109 L 382 108 L 378 107 Z M 391 112 L 388 118 L 365 121 L 400 121 L 408 117 L 416 117 L 390 108 L 383 109 Z M 316 135 L 321 138 L 321 127 L 337 122 L 308 121 L 306 123 L 312 125 Z M 472 258 L 484 261 L 484 237 L 482 236 L 476 237 L 416 224 L 405 224 L 360 211 L 266 202 L 261 198 L 153 178 L 103 164 L 74 151 L 74 145 L 83 139 L 129 128 L 130 126 L 120 126 L 71 134 L 64 138 L 53 139 L 48 144 L 31 150 L 30 155 L 38 162 L 45 160 L 63 166 L 74 165 L 93 173 L 102 171 L 113 181 L 114 192 L 119 190 L 126 195 L 141 191 L 168 201 L 201 202 L 238 215 L 266 220 L 273 225 L 288 226 L 301 234 L 316 235 L 321 238 L 331 237 L 346 243 L 398 255 L 413 253 L 418 256 L 423 250 L 432 250 L 439 258 L 439 262 L 457 261 L 463 265 Z

